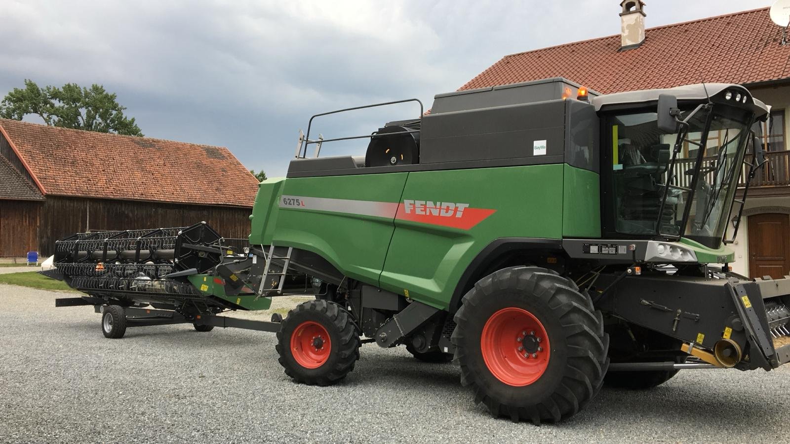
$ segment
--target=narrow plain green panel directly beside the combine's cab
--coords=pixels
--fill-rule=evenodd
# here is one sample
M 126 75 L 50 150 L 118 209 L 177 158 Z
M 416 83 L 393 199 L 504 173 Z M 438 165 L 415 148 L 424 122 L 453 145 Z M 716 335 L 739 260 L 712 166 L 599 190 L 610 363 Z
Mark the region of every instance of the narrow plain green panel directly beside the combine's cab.
M 562 237 L 600 237 L 600 177 L 564 165 Z

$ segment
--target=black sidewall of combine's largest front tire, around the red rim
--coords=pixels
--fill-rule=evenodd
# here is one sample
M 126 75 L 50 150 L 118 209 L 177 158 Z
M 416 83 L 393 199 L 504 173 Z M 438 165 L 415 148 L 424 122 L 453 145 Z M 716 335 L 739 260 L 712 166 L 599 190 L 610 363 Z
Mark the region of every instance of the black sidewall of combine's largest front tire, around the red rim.
M 502 308 L 511 307 L 522 308 L 540 320 L 551 346 L 549 361 L 543 375 L 528 386 L 510 386 L 500 381 L 491 373 L 483 360 L 480 342 L 483 326 L 491 315 Z M 498 401 L 513 406 L 530 405 L 536 400 L 551 397 L 562 382 L 568 355 L 567 342 L 559 316 L 548 307 L 546 301 L 517 289 L 500 289 L 482 298 L 480 303 L 475 305 L 474 312 L 475 315 L 469 316 L 466 323 L 463 341 L 467 353 L 466 364 L 470 370 L 479 375 L 477 382 L 483 390 Z M 516 345 L 515 341 L 516 338 L 513 338 L 513 346 Z

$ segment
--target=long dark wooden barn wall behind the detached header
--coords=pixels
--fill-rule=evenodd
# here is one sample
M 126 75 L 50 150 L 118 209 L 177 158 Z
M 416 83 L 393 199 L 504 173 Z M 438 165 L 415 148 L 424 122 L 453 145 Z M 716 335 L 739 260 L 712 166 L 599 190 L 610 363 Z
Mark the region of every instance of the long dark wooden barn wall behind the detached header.
M 220 236 L 246 238 L 250 235 L 251 212 L 251 208 L 47 196 L 41 214 L 40 245 L 44 255 L 51 255 L 55 241 L 85 231 L 88 215 L 91 231 L 190 226 L 205 221 Z

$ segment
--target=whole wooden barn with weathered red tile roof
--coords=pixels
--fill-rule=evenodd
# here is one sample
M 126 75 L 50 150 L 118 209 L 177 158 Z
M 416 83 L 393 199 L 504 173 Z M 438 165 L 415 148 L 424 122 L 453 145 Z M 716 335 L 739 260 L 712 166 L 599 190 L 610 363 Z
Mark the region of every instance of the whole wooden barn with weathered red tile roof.
M 0 257 L 98 229 L 249 235 L 258 180 L 225 147 L 0 119 Z

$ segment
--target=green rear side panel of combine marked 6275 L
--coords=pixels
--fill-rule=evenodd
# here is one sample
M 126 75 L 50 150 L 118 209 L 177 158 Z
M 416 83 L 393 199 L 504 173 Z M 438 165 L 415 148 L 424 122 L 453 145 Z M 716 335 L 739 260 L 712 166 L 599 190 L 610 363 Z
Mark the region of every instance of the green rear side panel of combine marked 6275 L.
M 391 203 L 391 208 L 381 207 L 378 216 L 351 208 L 340 213 L 280 207 L 271 241 L 318 253 L 349 278 L 375 285 L 395 229 L 393 219 L 406 177 L 408 173 L 290 178 L 280 196 L 357 200 L 363 205 Z M 346 210 L 338 204 L 336 211 Z

